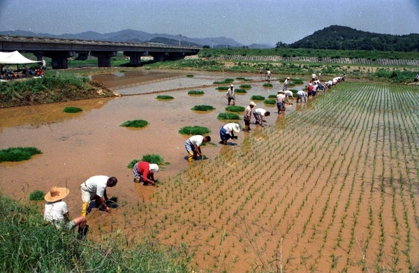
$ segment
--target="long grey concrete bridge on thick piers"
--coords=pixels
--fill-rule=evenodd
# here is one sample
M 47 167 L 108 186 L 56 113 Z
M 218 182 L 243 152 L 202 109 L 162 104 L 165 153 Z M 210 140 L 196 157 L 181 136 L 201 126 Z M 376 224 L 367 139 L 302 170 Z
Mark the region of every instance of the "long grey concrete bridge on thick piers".
M 34 53 L 38 61 L 42 61 L 44 56 L 51 58 L 52 68 L 66 69 L 67 59 L 75 54 L 78 54 L 78 59 L 87 59 L 89 55 L 97 57 L 98 67 L 110 67 L 110 58 L 117 52 L 124 52 L 132 66 L 140 66 L 142 56 L 152 56 L 154 61 L 183 59 L 197 54 L 200 47 L 0 35 L 0 51 L 15 50 Z

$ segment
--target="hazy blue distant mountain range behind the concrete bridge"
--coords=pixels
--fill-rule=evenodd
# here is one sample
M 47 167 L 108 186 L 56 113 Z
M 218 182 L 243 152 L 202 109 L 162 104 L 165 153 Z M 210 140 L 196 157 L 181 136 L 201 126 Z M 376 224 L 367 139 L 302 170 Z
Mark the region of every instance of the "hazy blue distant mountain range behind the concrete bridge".
M 144 31 L 133 29 L 124 29 L 122 31 L 111 32 L 108 34 L 99 34 L 94 31 L 82 32 L 80 34 L 36 34 L 31 31 L 0 31 L 0 35 L 13 36 L 31 36 L 31 37 L 48 37 L 48 38 L 68 38 L 79 40 L 106 40 L 110 42 L 128 42 L 128 43 L 164 43 L 166 45 L 198 46 L 198 47 L 249 47 L 249 48 L 272 48 L 272 45 L 242 45 L 232 38 L 212 37 L 212 38 L 189 38 L 187 36 L 170 35 L 170 34 L 149 34 Z

